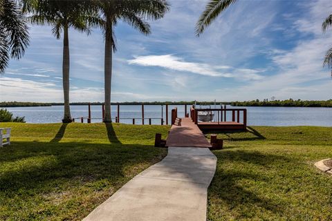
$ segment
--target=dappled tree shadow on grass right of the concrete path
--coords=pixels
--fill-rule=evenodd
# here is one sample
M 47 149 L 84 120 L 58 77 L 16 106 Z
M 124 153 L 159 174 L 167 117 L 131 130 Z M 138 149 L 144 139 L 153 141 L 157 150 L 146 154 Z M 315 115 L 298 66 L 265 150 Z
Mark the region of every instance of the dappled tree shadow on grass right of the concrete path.
M 223 150 L 214 151 L 214 154 L 218 158 L 219 165 L 217 165 L 216 173 L 208 190 L 209 204 L 212 204 L 210 210 L 212 207 L 212 211 L 219 208 L 220 205 L 214 204 L 214 200 L 216 200 L 219 204 L 225 205 L 223 209 L 234 210 L 232 214 L 235 216 L 232 218 L 235 220 L 252 218 L 250 215 L 255 215 L 255 210 L 261 211 L 261 209 L 275 213 L 277 216 L 284 213 L 286 208 L 283 204 L 265 195 L 262 196 L 261 190 L 255 185 L 273 182 L 275 178 L 272 175 L 266 175 L 266 173 L 259 173 L 262 169 L 261 166 L 265 167 L 264 170 L 268 170 L 271 162 L 288 162 L 288 157 L 263 154 L 258 151 Z M 246 165 L 250 166 L 250 169 L 246 169 L 244 167 Z M 257 166 L 259 167 L 257 168 Z

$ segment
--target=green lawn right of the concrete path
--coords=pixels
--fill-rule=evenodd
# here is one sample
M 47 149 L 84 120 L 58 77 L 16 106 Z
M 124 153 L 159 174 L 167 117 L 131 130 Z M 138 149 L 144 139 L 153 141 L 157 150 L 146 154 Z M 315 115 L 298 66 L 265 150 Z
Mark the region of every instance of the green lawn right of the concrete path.
M 255 126 L 218 133 L 225 149 L 208 190 L 208 220 L 332 220 L 332 128 Z

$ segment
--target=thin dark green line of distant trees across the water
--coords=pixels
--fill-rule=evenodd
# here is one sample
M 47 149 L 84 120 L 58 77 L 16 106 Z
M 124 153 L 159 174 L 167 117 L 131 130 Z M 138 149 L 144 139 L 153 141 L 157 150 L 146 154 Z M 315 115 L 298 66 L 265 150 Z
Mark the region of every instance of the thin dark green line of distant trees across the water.
M 111 105 L 192 105 L 195 101 L 191 102 L 111 102 Z M 72 106 L 79 105 L 102 105 L 103 102 L 73 102 Z M 214 105 L 214 102 L 196 102 L 199 105 Z M 284 107 L 324 107 L 332 108 L 332 99 L 326 101 L 309 101 L 309 100 L 274 100 L 268 101 L 264 99 L 263 101 L 252 100 L 247 102 L 216 102 L 217 105 L 228 104 L 232 106 L 284 106 Z M 0 108 L 12 108 L 12 107 L 29 107 L 29 106 L 62 106 L 64 103 L 43 103 L 43 102 L 0 102 Z

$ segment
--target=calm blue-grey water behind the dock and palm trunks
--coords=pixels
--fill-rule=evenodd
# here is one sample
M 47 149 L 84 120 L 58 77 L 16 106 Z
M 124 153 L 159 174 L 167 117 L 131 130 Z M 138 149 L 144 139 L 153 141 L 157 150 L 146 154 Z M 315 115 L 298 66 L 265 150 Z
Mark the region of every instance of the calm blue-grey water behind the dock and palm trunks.
M 178 116 L 184 115 L 185 108 L 178 105 Z M 230 107 L 230 106 L 229 106 Z M 116 106 L 112 106 L 112 117 L 116 117 Z M 174 106 L 169 105 L 169 122 L 171 110 Z M 237 107 L 240 108 L 240 107 Z M 245 107 L 248 110 L 248 125 L 252 126 L 332 126 L 332 108 L 294 108 L 294 107 Z M 15 116 L 25 116 L 28 123 L 55 123 L 61 122 L 63 117 L 63 106 L 48 107 L 18 107 L 7 108 Z M 190 106 L 187 106 L 189 112 Z M 72 117 L 88 116 L 88 106 L 71 106 Z M 92 122 L 101 122 L 102 107 L 91 106 Z M 140 105 L 123 105 L 120 106 L 120 122 L 132 124 L 132 118 L 141 118 Z M 145 105 L 145 124 L 148 124 L 148 118 L 152 124 L 160 124 L 162 117 L 162 106 Z M 231 117 L 228 114 L 228 117 Z M 130 118 L 130 119 L 124 119 Z M 163 118 L 165 120 L 165 106 L 163 106 Z M 230 120 L 230 119 L 228 119 Z M 140 119 L 136 119 L 136 124 L 142 124 Z

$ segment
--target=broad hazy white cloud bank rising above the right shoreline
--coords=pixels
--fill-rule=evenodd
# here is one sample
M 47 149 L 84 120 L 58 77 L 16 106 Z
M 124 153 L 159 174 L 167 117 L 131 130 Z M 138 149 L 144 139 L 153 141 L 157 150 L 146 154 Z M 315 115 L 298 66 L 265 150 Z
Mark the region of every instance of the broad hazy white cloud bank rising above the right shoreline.
M 322 35 L 320 28 L 322 18 L 329 15 L 332 9 L 332 2 L 326 3 L 317 1 L 309 4 L 306 16 L 295 21 L 297 31 L 312 34 L 313 37 L 299 41 L 292 50 L 275 50 L 270 54 L 280 69 L 276 75 L 241 86 L 235 93 L 223 91 L 222 94 L 241 100 L 264 99 L 272 95 L 277 99 L 331 99 L 330 73 L 322 68 L 324 54 L 329 46 L 326 42 L 332 42 L 331 33 Z

